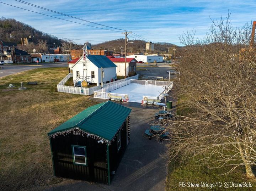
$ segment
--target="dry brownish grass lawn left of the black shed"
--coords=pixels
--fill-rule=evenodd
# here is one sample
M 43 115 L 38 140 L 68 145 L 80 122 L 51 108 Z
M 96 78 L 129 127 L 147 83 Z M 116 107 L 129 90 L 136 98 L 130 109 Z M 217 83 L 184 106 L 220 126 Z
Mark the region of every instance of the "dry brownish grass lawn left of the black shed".
M 66 75 L 66 68 L 39 68 L 0 78 L 0 190 L 75 181 L 53 176 L 47 133 L 96 102 L 89 96 L 56 92 Z M 38 85 L 27 85 L 28 81 Z M 18 90 L 20 82 L 27 90 Z M 6 88 L 9 84 L 15 88 Z

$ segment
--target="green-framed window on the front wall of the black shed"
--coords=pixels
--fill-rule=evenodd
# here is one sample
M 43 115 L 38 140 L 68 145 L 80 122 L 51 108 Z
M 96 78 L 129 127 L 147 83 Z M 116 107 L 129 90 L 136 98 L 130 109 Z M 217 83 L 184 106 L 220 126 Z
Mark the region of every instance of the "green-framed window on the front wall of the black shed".
M 73 163 L 87 166 L 86 146 L 71 145 Z

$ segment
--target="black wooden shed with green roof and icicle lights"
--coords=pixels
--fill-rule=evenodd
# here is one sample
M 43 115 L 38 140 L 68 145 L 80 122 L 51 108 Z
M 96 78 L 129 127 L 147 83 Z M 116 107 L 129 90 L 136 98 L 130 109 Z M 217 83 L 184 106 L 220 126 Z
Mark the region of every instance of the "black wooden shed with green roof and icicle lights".
M 130 112 L 107 101 L 50 131 L 54 175 L 110 184 L 130 139 Z

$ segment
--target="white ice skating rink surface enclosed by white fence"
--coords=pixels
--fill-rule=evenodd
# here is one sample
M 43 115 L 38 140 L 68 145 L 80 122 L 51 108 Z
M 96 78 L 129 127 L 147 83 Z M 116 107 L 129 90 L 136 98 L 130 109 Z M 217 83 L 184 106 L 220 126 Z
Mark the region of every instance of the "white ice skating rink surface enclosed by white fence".
M 129 102 L 141 103 L 143 96 L 159 96 L 164 91 L 163 86 L 158 85 L 142 85 L 142 84 L 128 84 L 121 88 L 111 91 L 111 93 L 128 94 Z

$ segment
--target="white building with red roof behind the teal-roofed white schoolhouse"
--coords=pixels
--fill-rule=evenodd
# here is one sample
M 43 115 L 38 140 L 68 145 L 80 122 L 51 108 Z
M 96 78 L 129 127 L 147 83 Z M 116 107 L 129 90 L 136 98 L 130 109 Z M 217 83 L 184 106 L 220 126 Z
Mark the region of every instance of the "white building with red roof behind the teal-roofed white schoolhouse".
M 114 64 L 117 65 L 116 73 L 117 75 L 124 76 L 125 68 L 125 58 L 115 58 L 114 56 L 107 56 Z M 129 72 L 137 72 L 137 60 L 134 58 L 126 58 L 126 75 L 128 76 Z

